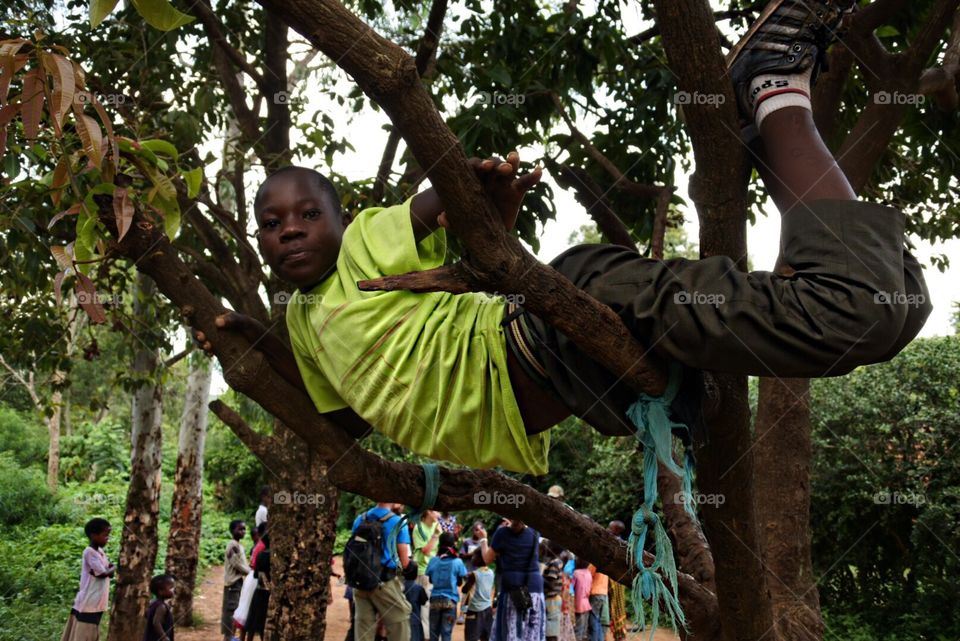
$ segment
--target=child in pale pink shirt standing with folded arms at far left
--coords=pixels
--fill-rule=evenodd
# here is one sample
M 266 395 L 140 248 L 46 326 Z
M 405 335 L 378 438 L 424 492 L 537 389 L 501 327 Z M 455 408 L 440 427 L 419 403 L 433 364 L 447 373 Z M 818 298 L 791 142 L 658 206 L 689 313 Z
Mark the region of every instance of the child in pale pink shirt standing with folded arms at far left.
M 103 546 L 110 540 L 110 531 L 106 519 L 90 519 L 83 526 L 90 545 L 83 551 L 80 589 L 73 600 L 61 641 L 97 641 L 100 638 L 100 619 L 110 598 L 110 577 L 117 571 L 103 551 Z

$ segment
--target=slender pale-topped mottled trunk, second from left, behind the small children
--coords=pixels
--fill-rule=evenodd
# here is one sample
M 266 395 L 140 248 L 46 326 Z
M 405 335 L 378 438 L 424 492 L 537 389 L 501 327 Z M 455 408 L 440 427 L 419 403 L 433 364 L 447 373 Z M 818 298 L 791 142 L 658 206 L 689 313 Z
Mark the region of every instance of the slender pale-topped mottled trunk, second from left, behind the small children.
M 207 402 L 211 366 L 194 354 L 180 419 L 177 473 L 170 508 L 166 573 L 177 577 L 173 611 L 178 625 L 193 625 L 193 589 L 200 554 L 203 515 L 203 445 L 207 436 Z

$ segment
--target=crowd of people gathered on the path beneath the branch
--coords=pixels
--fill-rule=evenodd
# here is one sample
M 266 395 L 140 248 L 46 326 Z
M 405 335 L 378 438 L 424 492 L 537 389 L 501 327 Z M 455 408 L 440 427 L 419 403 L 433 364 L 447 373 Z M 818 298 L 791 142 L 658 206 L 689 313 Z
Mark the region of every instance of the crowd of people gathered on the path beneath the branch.
M 563 501 L 559 486 L 549 495 Z M 359 514 L 384 524 L 381 583 L 351 589 L 346 641 L 450 641 L 464 624 L 466 641 L 623 641 L 624 586 L 586 559 L 519 520 L 468 530 L 454 514 L 428 510 L 416 524 L 403 506 L 378 503 Z M 395 536 L 394 530 L 399 528 Z M 626 528 L 612 521 L 623 537 Z

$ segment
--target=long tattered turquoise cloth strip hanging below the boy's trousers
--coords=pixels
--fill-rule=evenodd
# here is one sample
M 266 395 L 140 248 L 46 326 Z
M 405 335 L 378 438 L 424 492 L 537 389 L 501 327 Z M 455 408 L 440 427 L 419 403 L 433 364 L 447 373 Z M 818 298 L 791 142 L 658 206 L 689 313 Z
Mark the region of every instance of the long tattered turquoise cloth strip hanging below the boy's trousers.
M 667 536 L 660 516 L 654 512 L 657 501 L 658 462 L 681 479 L 682 496 L 679 497 L 684 509 L 696 522 L 693 501 L 693 452 L 689 445 L 689 429 L 683 423 L 670 419 L 670 404 L 680 389 L 682 368 L 679 363 L 670 367 L 670 381 L 662 396 L 654 397 L 642 394 L 627 410 L 627 417 L 637 428 L 636 437 L 643 444 L 643 504 L 633 515 L 630 526 L 630 538 L 627 542 L 627 562 L 635 565 L 637 574 L 633 579 L 631 596 L 635 616 L 640 625 L 646 626 L 646 614 L 643 602 L 650 603 L 653 617 L 650 627 L 650 639 L 660 623 L 661 603 L 676 630 L 677 625 L 686 629 L 687 622 L 680 607 L 677 583 L 677 565 L 673 556 L 673 547 Z M 686 436 L 688 443 L 681 468 L 673 460 L 673 433 L 677 431 Z M 647 536 L 653 537 L 654 559 L 651 565 L 643 562 L 644 546 Z

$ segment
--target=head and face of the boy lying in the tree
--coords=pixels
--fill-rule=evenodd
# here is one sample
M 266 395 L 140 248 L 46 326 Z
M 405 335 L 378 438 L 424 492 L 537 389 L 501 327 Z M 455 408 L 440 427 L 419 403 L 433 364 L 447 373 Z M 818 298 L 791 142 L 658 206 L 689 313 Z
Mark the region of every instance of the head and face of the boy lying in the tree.
M 298 289 L 317 285 L 337 262 L 346 219 L 305 171 L 270 178 L 254 212 L 260 254 L 284 281 Z

